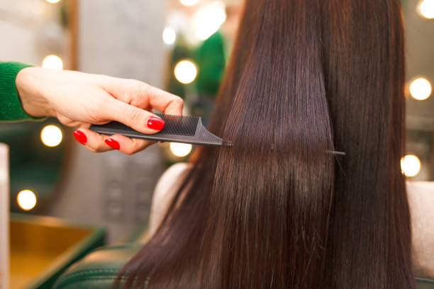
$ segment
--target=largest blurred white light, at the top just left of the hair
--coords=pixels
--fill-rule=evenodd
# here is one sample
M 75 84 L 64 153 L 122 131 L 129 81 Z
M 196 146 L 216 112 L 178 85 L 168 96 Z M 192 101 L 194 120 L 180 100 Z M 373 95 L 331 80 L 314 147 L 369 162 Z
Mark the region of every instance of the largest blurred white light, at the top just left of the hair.
M 226 5 L 223 1 L 213 1 L 194 14 L 194 34 L 199 40 L 206 40 L 216 33 L 225 21 Z

